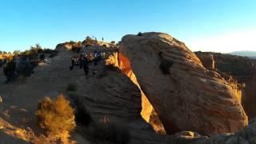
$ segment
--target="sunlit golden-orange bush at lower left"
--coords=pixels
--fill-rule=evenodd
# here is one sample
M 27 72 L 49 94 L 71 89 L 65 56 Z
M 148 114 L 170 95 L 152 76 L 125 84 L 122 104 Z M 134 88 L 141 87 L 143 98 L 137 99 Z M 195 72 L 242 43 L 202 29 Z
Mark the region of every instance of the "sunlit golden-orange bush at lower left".
M 63 95 L 52 99 L 46 97 L 38 102 L 39 125 L 46 130 L 49 135 L 62 135 L 69 133 L 76 126 L 74 122 L 74 110 L 70 106 L 70 102 Z

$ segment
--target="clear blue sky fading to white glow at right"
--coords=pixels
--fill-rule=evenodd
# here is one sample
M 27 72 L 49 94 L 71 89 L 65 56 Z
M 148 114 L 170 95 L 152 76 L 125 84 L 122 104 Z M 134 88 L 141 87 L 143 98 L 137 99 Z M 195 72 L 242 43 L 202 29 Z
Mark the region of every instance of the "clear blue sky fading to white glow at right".
M 139 31 L 166 32 L 191 50 L 256 50 L 256 0 L 0 0 L 0 50 Z

